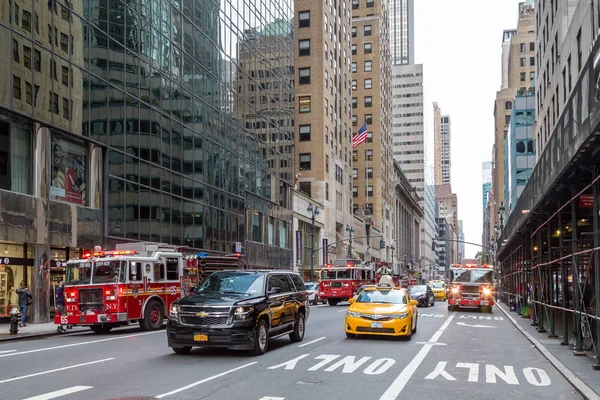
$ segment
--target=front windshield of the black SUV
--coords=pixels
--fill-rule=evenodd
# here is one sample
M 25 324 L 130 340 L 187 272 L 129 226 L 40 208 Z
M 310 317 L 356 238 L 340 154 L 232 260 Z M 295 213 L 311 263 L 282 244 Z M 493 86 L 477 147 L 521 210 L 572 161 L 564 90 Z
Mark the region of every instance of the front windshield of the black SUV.
M 242 272 L 217 272 L 209 276 L 197 290 L 198 294 L 237 294 L 245 296 L 264 293 L 265 276 Z

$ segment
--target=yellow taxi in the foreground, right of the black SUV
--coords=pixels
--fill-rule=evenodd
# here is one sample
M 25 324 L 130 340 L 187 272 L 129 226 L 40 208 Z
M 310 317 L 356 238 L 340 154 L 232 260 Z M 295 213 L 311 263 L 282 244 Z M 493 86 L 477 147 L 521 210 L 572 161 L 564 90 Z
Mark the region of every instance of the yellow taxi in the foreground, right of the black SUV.
M 400 287 L 366 287 L 349 300 L 346 312 L 346 336 L 406 336 L 417 331 L 417 301 Z

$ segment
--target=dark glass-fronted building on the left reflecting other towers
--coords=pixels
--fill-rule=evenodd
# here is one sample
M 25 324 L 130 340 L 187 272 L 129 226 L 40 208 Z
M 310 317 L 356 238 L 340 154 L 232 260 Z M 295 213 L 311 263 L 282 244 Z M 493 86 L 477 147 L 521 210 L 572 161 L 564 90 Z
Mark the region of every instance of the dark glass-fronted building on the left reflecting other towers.
M 292 17 L 291 0 L 0 0 L 0 317 L 24 284 L 48 320 L 64 261 L 95 245 L 241 242 L 250 265 L 292 266 Z

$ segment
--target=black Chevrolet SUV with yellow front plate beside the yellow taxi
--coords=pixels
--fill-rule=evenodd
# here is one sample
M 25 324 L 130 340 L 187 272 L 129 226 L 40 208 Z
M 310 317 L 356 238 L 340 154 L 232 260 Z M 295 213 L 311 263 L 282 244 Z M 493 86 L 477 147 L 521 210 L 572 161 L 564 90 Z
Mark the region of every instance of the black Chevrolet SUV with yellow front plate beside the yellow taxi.
M 261 355 L 271 338 L 289 334 L 302 341 L 308 313 L 304 281 L 295 272 L 219 271 L 173 302 L 167 338 L 178 354 L 201 346 Z

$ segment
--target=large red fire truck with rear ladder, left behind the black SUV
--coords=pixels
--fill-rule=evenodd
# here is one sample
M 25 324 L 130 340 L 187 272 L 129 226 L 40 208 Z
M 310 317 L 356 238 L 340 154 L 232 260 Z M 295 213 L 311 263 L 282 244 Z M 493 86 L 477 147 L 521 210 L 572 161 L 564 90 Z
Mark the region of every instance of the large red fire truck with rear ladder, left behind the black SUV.
M 245 268 L 241 255 L 192 254 L 156 243 L 121 244 L 113 251 L 96 246 L 67 262 L 65 307 L 59 307 L 54 323 L 89 326 L 95 333 L 132 323 L 159 329 L 173 301 L 226 268 Z

